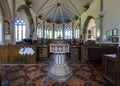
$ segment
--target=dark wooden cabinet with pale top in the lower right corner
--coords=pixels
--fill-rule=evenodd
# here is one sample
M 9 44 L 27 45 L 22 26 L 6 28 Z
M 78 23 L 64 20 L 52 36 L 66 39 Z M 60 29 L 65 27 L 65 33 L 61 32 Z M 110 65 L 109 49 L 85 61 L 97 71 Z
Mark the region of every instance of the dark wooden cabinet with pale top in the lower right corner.
M 109 55 L 109 54 L 108 54 Z M 120 59 L 118 56 L 103 56 L 103 76 L 113 86 L 120 86 Z

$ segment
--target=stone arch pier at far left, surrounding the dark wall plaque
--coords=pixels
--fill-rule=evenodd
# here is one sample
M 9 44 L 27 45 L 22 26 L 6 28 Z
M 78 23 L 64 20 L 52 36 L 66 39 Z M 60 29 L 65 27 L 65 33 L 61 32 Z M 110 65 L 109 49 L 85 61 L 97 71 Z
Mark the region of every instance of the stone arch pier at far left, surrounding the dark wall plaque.
M 0 10 L 1 10 L 1 14 L 2 14 L 2 44 L 3 45 L 7 45 L 9 43 L 12 43 L 12 20 L 13 20 L 13 16 L 11 14 L 11 11 L 10 11 L 10 7 L 9 7 L 9 4 L 8 4 L 8 1 L 7 0 L 0 0 Z M 10 28 L 10 35 L 11 35 L 11 39 L 10 40 L 7 40 L 5 41 L 5 34 L 4 34 L 4 22 L 7 21 L 9 23 L 9 28 Z

